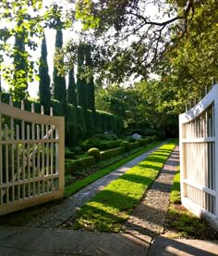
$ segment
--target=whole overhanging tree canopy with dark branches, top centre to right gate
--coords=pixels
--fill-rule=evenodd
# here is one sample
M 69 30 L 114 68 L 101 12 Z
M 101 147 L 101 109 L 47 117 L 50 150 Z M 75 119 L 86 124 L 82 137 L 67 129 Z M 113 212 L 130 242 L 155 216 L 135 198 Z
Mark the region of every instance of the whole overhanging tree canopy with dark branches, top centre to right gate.
M 147 81 L 154 72 L 171 94 L 163 110 L 179 113 L 216 80 L 217 1 L 78 0 L 76 10 L 102 81 Z

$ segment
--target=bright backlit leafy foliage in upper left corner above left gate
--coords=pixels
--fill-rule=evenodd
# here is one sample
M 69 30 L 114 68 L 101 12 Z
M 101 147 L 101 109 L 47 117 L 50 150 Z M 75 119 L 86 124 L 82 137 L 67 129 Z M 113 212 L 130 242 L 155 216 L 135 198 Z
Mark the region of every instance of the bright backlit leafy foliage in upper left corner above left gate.
M 38 64 L 32 60 L 32 51 L 37 49 L 43 29 L 54 28 L 58 17 L 66 26 L 68 18 L 57 5 L 43 8 L 42 0 L 3 0 L 0 9 L 0 70 L 14 99 L 21 100 L 28 96 L 28 84 L 38 81 Z M 13 38 L 15 45 L 11 44 Z M 8 64 L 8 58 L 14 60 L 13 65 Z

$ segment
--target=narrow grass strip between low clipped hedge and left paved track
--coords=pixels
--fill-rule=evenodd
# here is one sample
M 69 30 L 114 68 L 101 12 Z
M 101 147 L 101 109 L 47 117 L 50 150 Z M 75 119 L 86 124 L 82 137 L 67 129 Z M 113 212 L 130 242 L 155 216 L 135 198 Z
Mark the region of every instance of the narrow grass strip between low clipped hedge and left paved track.
M 84 179 L 82 179 L 78 182 L 75 182 L 72 185 L 66 186 L 66 188 L 65 188 L 65 197 L 69 198 L 73 194 L 77 193 L 83 187 L 90 185 L 91 183 L 95 182 L 96 180 L 102 178 L 104 175 L 115 171 L 115 169 L 124 165 L 128 161 L 139 157 L 143 153 L 146 153 L 147 151 L 149 151 L 151 148 L 156 147 L 160 144 L 161 144 L 160 141 L 153 142 L 150 145 L 148 145 L 148 146 L 144 147 L 143 149 L 139 150 L 138 152 L 128 156 L 124 160 L 119 160 L 119 161 L 115 162 L 114 164 L 112 164 L 112 165 L 110 165 L 110 166 L 108 166 L 108 167 L 106 167 L 106 168 L 104 168 L 100 171 L 97 171 L 96 173 L 91 174 L 89 177 L 86 177 L 86 178 L 84 178 Z

